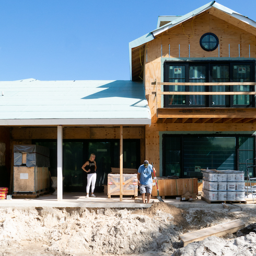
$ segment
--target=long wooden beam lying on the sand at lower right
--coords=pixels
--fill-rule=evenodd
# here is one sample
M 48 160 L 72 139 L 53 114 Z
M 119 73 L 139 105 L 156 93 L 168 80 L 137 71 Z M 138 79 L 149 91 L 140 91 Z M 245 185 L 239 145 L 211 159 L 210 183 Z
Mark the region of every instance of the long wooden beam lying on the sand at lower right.
M 216 236 L 221 237 L 228 233 L 235 233 L 245 227 L 245 223 L 241 220 L 233 220 L 224 224 L 219 224 L 213 227 L 203 228 L 187 234 L 181 235 L 179 238 L 183 241 L 183 246 L 187 246 L 191 242 L 202 241 L 206 237 Z

